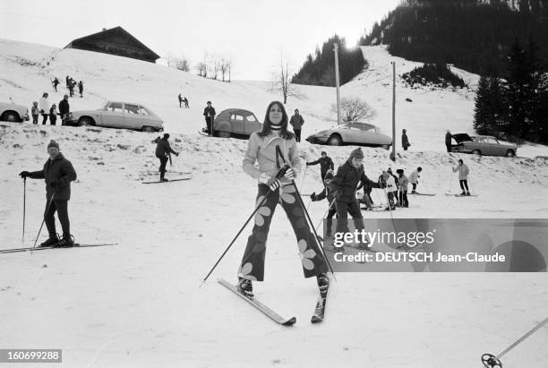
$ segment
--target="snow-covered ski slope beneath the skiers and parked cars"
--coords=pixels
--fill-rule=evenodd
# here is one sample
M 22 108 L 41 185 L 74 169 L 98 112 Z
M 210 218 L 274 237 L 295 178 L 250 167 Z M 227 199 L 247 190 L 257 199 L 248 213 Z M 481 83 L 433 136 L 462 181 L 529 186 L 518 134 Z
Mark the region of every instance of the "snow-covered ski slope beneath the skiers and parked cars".
M 391 67 L 415 63 L 392 58 L 381 47 L 364 47 L 371 68 L 342 88 L 342 96 L 364 98 L 377 111 L 375 124 L 390 132 Z M 293 231 L 278 209 L 270 231 L 266 281 L 256 295 L 284 316 L 280 328 L 215 279 L 235 281 L 251 228 L 235 243 L 210 281 L 203 278 L 253 210 L 255 182 L 244 175 L 245 141 L 210 139 L 196 133 L 211 100 L 251 109 L 260 119 L 279 92 L 267 81 L 222 83 L 191 73 L 117 56 L 0 40 L 0 100 L 30 107 L 43 91 L 50 102 L 65 93 L 49 79 L 69 74 L 85 83 L 84 98 L 71 109 L 100 107 L 108 99 L 141 102 L 165 120 L 174 149 L 168 170 L 192 172 L 192 180 L 142 185 L 157 178 L 155 133 L 100 128 L 0 123 L 0 248 L 21 246 L 22 170 L 39 169 L 50 139 L 73 162 L 69 213 L 81 243 L 114 247 L 0 254 L 0 347 L 62 348 L 70 367 L 480 367 L 480 356 L 497 354 L 546 317 L 545 273 L 347 273 L 330 288 L 326 320 L 309 320 L 317 296 L 315 280 L 302 278 Z M 461 71 L 472 88 L 477 76 Z M 331 88 L 298 86 L 287 110 L 304 116 L 303 136 L 334 123 Z M 191 108 L 179 108 L 179 92 Z M 410 197 L 402 218 L 546 218 L 548 166 L 524 157 L 548 155 L 544 146 L 524 145 L 520 158 L 454 155 L 470 167 L 471 191 L 456 199 L 451 174 L 455 158 L 443 152 L 443 134 L 472 133 L 473 90 L 410 90 L 398 83 L 398 132 L 407 128 L 413 146 L 396 164 L 388 151 L 364 149 L 365 173 L 375 179 L 387 167 L 407 173 L 423 167 L 419 189 L 433 197 Z M 408 103 L 405 98 L 412 98 Z M 399 135 L 399 134 L 398 134 Z M 327 150 L 336 165 L 351 147 L 300 144 L 312 160 Z M 304 161 L 303 161 L 304 162 Z M 176 178 L 167 173 L 168 178 Z M 319 169 L 310 167 L 302 193 L 319 192 Z M 44 184 L 27 181 L 26 238 L 32 244 L 45 206 Z M 373 191 L 373 201 L 382 201 Z M 304 198 L 308 204 L 308 198 Z M 313 202 L 318 223 L 326 202 Z M 388 212 L 366 217 L 388 218 Z M 44 234 L 42 234 L 44 235 Z M 544 367 L 548 329 L 541 329 L 504 359 L 505 367 Z M 21 364 L 25 366 L 25 364 Z

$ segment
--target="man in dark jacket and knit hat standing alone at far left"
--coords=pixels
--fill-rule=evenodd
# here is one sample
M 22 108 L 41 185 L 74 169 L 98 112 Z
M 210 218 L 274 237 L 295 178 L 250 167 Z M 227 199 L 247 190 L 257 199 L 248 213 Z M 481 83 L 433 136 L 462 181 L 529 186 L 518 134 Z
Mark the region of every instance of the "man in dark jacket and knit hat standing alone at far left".
M 68 216 L 68 201 L 71 199 L 71 182 L 76 180 L 76 172 L 71 161 L 64 158 L 63 153 L 59 151 L 59 143 L 56 141 L 49 142 L 47 153 L 49 158 L 41 170 L 34 172 L 21 171 L 20 174 L 22 178 L 30 177 L 31 179 L 45 179 L 46 181 L 47 202 L 44 222 L 49 237 L 40 246 L 74 246 Z M 56 212 L 63 228 L 62 239 L 59 239 L 56 233 L 56 218 L 54 217 Z

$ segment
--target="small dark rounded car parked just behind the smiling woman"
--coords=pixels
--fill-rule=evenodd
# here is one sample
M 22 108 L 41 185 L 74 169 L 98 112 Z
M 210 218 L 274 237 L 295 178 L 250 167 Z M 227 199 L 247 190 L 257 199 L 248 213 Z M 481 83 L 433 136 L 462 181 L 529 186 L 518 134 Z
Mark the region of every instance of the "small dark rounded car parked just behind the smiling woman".
M 249 138 L 253 132 L 261 130 L 257 116 L 243 108 L 227 108 L 213 122 L 213 131 L 218 137 Z

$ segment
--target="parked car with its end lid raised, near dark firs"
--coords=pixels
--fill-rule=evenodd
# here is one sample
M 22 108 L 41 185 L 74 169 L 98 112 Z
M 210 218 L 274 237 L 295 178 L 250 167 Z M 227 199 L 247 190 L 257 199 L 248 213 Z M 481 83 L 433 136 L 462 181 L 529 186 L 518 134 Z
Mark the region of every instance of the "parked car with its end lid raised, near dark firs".
M 451 146 L 453 152 L 474 153 L 485 156 L 506 156 L 512 158 L 518 153 L 514 143 L 501 142 L 491 135 L 469 136 L 467 133 L 453 134 L 457 144 Z

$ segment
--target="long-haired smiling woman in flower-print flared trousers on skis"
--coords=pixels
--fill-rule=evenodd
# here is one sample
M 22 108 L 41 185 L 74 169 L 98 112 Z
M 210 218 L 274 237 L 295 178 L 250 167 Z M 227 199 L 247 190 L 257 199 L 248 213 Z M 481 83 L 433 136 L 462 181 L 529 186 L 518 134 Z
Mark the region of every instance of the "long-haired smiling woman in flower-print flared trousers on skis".
M 287 131 L 287 117 L 284 105 L 270 102 L 260 132 L 249 138 L 242 167 L 244 173 L 259 181 L 252 235 L 249 236 L 240 269 L 238 270 L 238 291 L 253 298 L 252 281 L 264 278 L 264 260 L 269 236 L 270 221 L 278 203 L 286 211 L 287 218 L 295 231 L 296 242 L 303 263 L 304 278 L 316 277 L 321 295 L 327 295 L 330 279 L 328 266 L 320 250 L 318 239 L 311 232 L 301 199 L 297 198 L 294 179 L 301 171 L 301 161 L 295 135 Z M 284 163 L 289 168 L 280 169 Z M 280 176 L 280 177 L 277 177 Z

